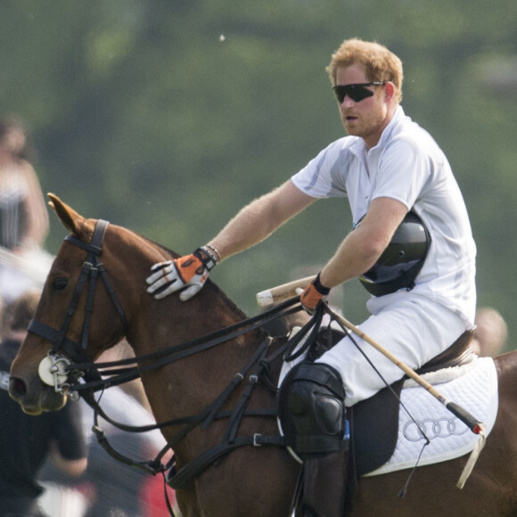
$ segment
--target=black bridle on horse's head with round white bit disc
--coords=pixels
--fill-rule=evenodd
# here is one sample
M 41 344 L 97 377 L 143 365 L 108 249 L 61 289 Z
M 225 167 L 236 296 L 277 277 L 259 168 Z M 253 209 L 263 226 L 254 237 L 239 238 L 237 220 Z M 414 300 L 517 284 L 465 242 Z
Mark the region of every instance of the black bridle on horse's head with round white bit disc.
M 100 261 L 100 257 L 103 253 L 104 234 L 106 233 L 108 225 L 108 221 L 99 219 L 95 225 L 91 242 L 80 241 L 73 235 L 65 237 L 66 242 L 70 242 L 71 244 L 86 250 L 87 257 L 83 262 L 82 271 L 79 275 L 78 283 L 72 295 L 72 299 L 70 300 L 70 305 L 66 311 L 62 325 L 59 330 L 56 330 L 47 324 L 33 319 L 28 327 L 29 332 L 35 333 L 53 344 L 53 348 L 48 352 L 47 357 L 45 357 L 39 365 L 39 375 L 43 382 L 54 386 L 56 391 L 62 391 L 67 379 L 67 366 L 70 365 L 69 359 L 62 355 L 63 352 L 75 362 L 88 360 L 86 355 L 86 346 L 88 344 L 88 335 L 94 310 L 95 286 L 99 275 L 101 276 L 113 305 L 119 313 L 122 323 L 127 327 L 127 318 L 124 314 L 124 309 L 117 299 L 111 287 L 106 270 L 103 267 L 103 263 Z M 75 311 L 78 308 L 81 294 L 86 287 L 86 280 L 88 279 L 90 280 L 90 283 L 88 286 L 85 316 L 80 341 L 71 341 L 66 337 L 66 334 L 69 330 L 72 316 L 74 316 Z

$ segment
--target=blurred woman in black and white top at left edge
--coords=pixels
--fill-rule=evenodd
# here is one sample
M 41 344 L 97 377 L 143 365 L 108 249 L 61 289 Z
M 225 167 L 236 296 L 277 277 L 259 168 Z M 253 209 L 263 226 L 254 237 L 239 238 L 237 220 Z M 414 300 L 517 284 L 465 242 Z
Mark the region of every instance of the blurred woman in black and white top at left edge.
M 52 263 L 44 250 L 48 213 L 28 149 L 21 119 L 0 119 L 0 295 L 6 301 L 41 287 Z

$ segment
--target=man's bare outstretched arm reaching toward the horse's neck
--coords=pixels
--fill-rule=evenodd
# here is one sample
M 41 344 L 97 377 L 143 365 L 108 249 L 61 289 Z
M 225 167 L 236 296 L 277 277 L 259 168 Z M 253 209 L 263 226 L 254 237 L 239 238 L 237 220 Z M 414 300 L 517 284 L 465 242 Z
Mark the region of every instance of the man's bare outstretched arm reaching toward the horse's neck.
M 220 255 L 231 255 L 264 241 L 286 221 L 306 209 L 316 198 L 302 193 L 291 180 L 251 201 L 209 242 Z

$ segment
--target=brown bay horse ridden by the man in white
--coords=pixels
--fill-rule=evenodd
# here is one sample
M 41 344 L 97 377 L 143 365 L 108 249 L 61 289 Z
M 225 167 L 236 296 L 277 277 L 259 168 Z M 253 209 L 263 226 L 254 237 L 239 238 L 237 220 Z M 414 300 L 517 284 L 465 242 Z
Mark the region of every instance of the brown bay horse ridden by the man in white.
M 58 197 L 49 196 L 70 235 L 53 262 L 34 316 L 34 321 L 50 331 L 29 332 L 12 364 L 10 393 L 26 413 L 52 411 L 66 403 L 66 390 L 54 390 L 38 375 L 38 366 L 60 332 L 65 334 L 61 336 L 64 341 L 83 341 L 90 359 L 124 337 L 136 357 L 148 357 L 171 347 L 181 349 L 182 343 L 196 343 L 202 336 L 233 328 L 246 319 L 210 281 L 187 302 L 176 295 L 154 300 L 146 293 L 145 278 L 154 263 L 172 259 L 176 253 L 121 226 L 104 225 L 99 239 L 96 228 L 102 219 L 86 219 Z M 107 288 L 94 288 L 90 303 L 87 291 L 88 284 L 93 284 L 91 279 L 80 296 L 75 293 L 80 291 L 78 283 L 84 282 L 86 257 L 92 254 L 102 259 L 98 269 L 109 276 L 110 282 Z M 77 307 L 70 311 L 70 304 Z M 64 326 L 63 321 L 67 321 Z M 87 336 L 83 335 L 85 326 Z M 254 328 L 199 353 L 190 354 L 188 347 L 184 348 L 180 360 L 142 372 L 157 422 L 177 423 L 190 415 L 203 414 L 228 385 L 235 379 L 242 380 L 240 375 L 244 382 L 234 382 L 234 390 L 221 407 L 228 409 L 243 397 L 249 398 L 250 414 L 244 413 L 239 420 L 236 439 L 275 436 L 275 418 L 259 411 L 251 414 L 259 408 L 274 407 L 275 391 L 262 378 L 253 378 L 253 369 L 243 368 L 259 362 L 257 351 L 266 339 L 266 332 Z M 275 342 L 271 347 L 275 349 Z M 364 477 L 358 481 L 350 515 L 517 514 L 517 352 L 496 357 L 495 363 L 500 398 L 496 424 L 464 488 L 456 488 L 455 482 L 466 456 L 418 467 L 404 497 L 398 493 L 406 483 L 408 470 Z M 279 369 L 276 365 L 270 372 L 273 379 Z M 251 383 L 253 390 L 249 390 Z M 180 440 L 175 439 L 178 424 L 162 429 L 165 439 L 175 442 L 176 467 L 180 470 L 227 438 L 228 418 L 214 418 L 208 426 L 200 423 L 191 427 Z M 184 517 L 286 517 L 299 472 L 300 465 L 283 447 L 267 447 L 258 440 L 234 448 L 197 472 L 176 489 L 176 499 Z M 332 487 L 328 487 L 328 494 L 332 496 Z

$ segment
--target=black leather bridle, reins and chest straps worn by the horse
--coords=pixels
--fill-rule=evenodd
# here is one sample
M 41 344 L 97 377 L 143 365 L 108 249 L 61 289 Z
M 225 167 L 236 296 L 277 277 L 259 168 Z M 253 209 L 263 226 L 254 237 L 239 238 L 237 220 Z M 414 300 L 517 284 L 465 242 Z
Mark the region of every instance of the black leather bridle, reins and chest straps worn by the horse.
M 147 426 L 130 426 L 123 423 L 113 421 L 107 414 L 104 413 L 103 408 L 99 405 L 99 401 L 94 398 L 94 391 L 104 390 L 111 386 L 121 384 L 136 379 L 141 373 L 149 370 L 159 368 L 160 366 L 167 365 L 183 359 L 185 357 L 192 356 L 203 350 L 216 347 L 217 345 L 226 341 L 234 340 L 236 337 L 255 331 L 265 324 L 282 316 L 287 316 L 297 312 L 301 309 L 299 299 L 287 300 L 275 308 L 271 308 L 259 316 L 250 317 L 238 324 L 233 324 L 225 329 L 211 332 L 206 336 L 202 336 L 193 341 L 187 341 L 170 347 L 168 349 L 152 352 L 139 357 L 131 357 L 129 359 L 122 359 L 119 361 L 112 361 L 108 363 L 94 363 L 89 360 L 86 356 L 86 346 L 88 343 L 88 335 L 90 331 L 91 319 L 94 309 L 94 292 L 96 289 L 97 279 L 100 275 L 103 284 L 110 296 L 111 302 L 116 308 L 119 317 L 124 324 L 128 327 L 127 317 L 124 313 L 122 305 L 117 299 L 109 281 L 106 270 L 103 267 L 100 257 L 103 252 L 103 239 L 106 233 L 106 228 L 109 225 L 107 221 L 99 219 L 94 228 L 94 234 L 92 241 L 87 243 L 80 241 L 73 235 L 69 235 L 65 238 L 65 241 L 78 246 L 79 248 L 86 250 L 87 257 L 82 266 L 81 274 L 78 278 L 78 283 L 70 300 L 69 308 L 66 311 L 66 315 L 63 319 L 62 325 L 59 330 L 53 329 L 47 324 L 32 320 L 29 324 L 29 332 L 36 333 L 45 340 L 53 343 L 53 348 L 49 351 L 49 354 L 42 361 L 42 365 L 45 363 L 45 367 L 50 371 L 50 381 L 48 378 L 49 373 L 46 373 L 46 378 L 41 373 L 40 365 L 40 377 L 47 384 L 54 386 L 56 391 L 64 391 L 65 389 L 71 393 L 80 393 L 85 399 L 86 403 L 94 408 L 94 433 L 103 446 L 103 448 L 114 458 L 125 464 L 130 464 L 135 467 L 144 469 L 147 472 L 156 474 L 158 472 L 168 471 L 167 482 L 172 488 L 182 488 L 186 482 L 192 480 L 195 475 L 204 470 L 210 464 L 217 463 L 217 461 L 223 456 L 231 452 L 237 447 L 244 446 L 275 446 L 284 447 L 284 440 L 280 434 L 275 436 L 264 436 L 259 433 L 255 433 L 253 436 L 237 436 L 242 417 L 244 416 L 276 416 L 276 408 L 265 408 L 265 409 L 253 409 L 248 410 L 247 405 L 250 400 L 250 395 L 253 388 L 258 384 L 259 379 L 263 376 L 266 377 L 267 385 L 270 389 L 276 390 L 273 384 L 269 371 L 271 363 L 278 357 L 286 357 L 290 360 L 295 358 L 302 351 L 297 351 L 296 355 L 292 354 L 292 350 L 296 349 L 300 340 L 309 334 L 308 344 L 304 346 L 307 349 L 309 343 L 312 341 L 310 338 L 316 335 L 317 328 L 321 323 L 323 316 L 323 310 L 316 311 L 316 316 L 306 324 L 303 329 L 298 332 L 293 339 L 285 341 L 270 357 L 267 357 L 267 352 L 270 349 L 272 338 L 267 337 L 266 340 L 262 341 L 258 348 L 254 351 L 250 359 L 242 369 L 234 374 L 234 379 L 226 386 L 224 390 L 207 406 L 200 414 L 186 416 L 179 419 L 170 420 L 168 422 L 156 423 Z M 83 321 L 82 332 L 80 341 L 71 341 L 66 337 L 66 333 L 70 327 L 70 321 L 72 316 L 75 314 L 80 296 L 86 289 L 86 281 L 89 279 L 90 283 L 87 291 L 86 309 Z M 293 307 L 295 306 L 296 307 Z M 62 352 L 67 354 L 68 358 L 62 356 Z M 116 370 L 104 370 L 103 368 L 116 367 L 116 366 L 127 366 L 135 363 L 141 363 L 144 361 L 152 361 L 151 365 L 145 366 L 133 366 L 123 369 Z M 50 365 L 50 367 L 49 367 Z M 103 375 L 113 374 L 108 379 L 103 379 L 99 369 L 103 370 Z M 79 378 L 84 375 L 84 378 Z M 226 400 L 234 392 L 234 390 L 246 380 L 246 386 L 242 390 L 242 395 L 237 401 L 236 406 L 233 410 L 221 411 L 225 405 Z M 70 382 L 70 379 L 72 382 Z M 69 381 L 69 382 L 67 382 Z M 103 431 L 98 425 L 98 416 L 101 416 L 107 422 L 119 427 L 122 431 L 129 432 L 144 432 L 152 431 L 154 429 L 162 429 L 172 425 L 183 425 L 184 427 L 168 442 L 167 446 L 164 447 L 156 458 L 151 462 L 135 462 L 127 458 L 124 455 L 120 455 L 115 451 L 108 440 L 104 436 Z M 226 433 L 223 438 L 223 442 L 216 447 L 211 447 L 209 450 L 204 451 L 201 455 L 193 460 L 190 464 L 186 464 L 179 472 L 176 472 L 176 459 L 173 456 L 168 464 L 162 464 L 161 460 L 164 455 L 167 454 L 169 449 L 172 449 L 176 443 L 192 431 L 196 426 L 201 425 L 201 430 L 206 430 L 211 422 L 221 418 L 228 418 L 228 425 Z M 172 512 L 171 512 L 172 513 Z

